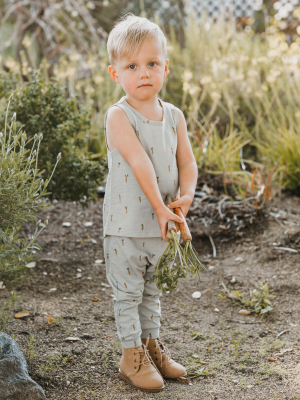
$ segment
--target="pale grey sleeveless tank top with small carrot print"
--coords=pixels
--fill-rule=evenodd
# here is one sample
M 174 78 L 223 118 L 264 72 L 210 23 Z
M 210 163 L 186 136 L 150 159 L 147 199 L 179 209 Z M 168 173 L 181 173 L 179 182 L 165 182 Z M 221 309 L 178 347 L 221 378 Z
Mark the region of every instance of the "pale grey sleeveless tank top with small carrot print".
M 163 107 L 163 121 L 151 121 L 130 106 L 123 96 L 112 107 L 120 107 L 127 115 L 136 136 L 152 161 L 157 184 L 165 201 L 179 194 L 176 160 L 178 110 L 158 99 Z M 106 235 L 127 237 L 161 237 L 156 213 L 135 178 L 132 168 L 117 149 L 107 148 L 108 175 L 103 201 L 103 238 Z

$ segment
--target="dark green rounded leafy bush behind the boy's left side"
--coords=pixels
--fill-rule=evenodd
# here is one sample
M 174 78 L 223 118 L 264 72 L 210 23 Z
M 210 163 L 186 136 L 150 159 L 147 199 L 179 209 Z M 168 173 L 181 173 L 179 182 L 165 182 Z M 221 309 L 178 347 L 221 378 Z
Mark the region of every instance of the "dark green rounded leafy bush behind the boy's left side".
M 46 83 L 37 71 L 29 82 L 14 91 L 11 109 L 17 113 L 17 122 L 24 125 L 29 139 L 43 133 L 38 167 L 45 169 L 46 178 L 57 154 L 62 154 L 55 180 L 49 184 L 50 199 L 78 201 L 82 205 L 95 199 L 104 167 L 103 163 L 92 161 L 88 151 L 91 111 L 81 107 L 76 97 L 68 97 L 57 80 Z

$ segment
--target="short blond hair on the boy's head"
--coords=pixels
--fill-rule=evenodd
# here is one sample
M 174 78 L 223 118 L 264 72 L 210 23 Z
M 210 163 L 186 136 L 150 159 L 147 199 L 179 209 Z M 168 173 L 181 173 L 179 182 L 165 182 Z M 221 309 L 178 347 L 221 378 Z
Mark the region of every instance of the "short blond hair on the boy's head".
M 113 64 L 122 57 L 136 55 L 147 38 L 157 39 L 161 42 L 167 58 L 167 39 L 157 24 L 132 13 L 121 17 L 111 30 L 107 40 L 110 63 Z

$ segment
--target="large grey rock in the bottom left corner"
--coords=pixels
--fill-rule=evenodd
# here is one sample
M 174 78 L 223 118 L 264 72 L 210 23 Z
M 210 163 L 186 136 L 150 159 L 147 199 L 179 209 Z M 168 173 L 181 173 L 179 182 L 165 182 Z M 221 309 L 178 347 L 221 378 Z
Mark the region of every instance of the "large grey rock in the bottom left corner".
M 44 390 L 28 374 L 26 360 L 17 343 L 0 333 L 0 399 L 45 400 Z

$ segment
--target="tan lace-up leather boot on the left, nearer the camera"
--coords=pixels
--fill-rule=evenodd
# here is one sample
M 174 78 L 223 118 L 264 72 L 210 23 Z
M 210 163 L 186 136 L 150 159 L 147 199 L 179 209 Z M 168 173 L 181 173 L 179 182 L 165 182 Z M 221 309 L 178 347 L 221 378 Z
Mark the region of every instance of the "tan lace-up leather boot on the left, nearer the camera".
M 164 380 L 144 345 L 131 349 L 123 348 L 119 376 L 145 392 L 160 392 L 165 387 Z

